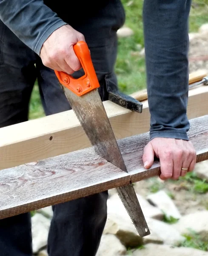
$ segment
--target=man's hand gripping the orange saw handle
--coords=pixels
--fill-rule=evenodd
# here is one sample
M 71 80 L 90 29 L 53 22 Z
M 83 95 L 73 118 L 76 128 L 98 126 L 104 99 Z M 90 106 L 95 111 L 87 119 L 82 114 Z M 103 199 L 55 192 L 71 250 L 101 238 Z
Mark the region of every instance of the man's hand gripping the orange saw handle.
M 40 58 L 43 65 L 68 74 L 80 70 L 81 64 L 73 49 L 78 41 L 85 41 L 84 35 L 69 25 L 55 30 L 41 48 Z

